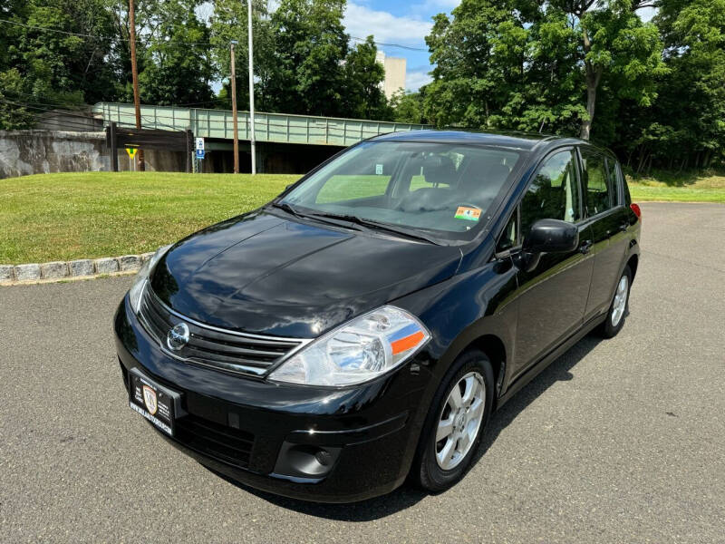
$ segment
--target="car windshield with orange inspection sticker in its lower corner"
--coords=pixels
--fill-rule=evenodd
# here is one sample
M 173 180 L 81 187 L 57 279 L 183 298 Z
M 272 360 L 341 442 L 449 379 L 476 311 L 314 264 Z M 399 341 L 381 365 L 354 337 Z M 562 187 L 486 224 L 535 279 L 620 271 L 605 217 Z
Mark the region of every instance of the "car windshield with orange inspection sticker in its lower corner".
M 363 142 L 281 200 L 300 213 L 347 216 L 471 239 L 522 160 L 513 149 Z

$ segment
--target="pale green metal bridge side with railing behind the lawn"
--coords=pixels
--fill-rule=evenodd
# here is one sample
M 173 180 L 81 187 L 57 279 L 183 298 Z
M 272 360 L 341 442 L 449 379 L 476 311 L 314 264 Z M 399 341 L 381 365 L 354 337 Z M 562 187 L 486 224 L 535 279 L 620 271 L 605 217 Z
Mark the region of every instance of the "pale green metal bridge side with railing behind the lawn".
M 141 126 L 146 129 L 191 130 L 200 138 L 232 140 L 234 137 L 232 112 L 227 110 L 151 105 L 142 105 L 140 110 Z M 93 112 L 102 115 L 106 123 L 116 121 L 121 127 L 136 126 L 133 104 L 99 102 L 93 107 Z M 428 128 L 428 125 L 390 121 L 255 112 L 256 141 L 348 146 L 387 132 Z M 250 133 L 249 112 L 237 112 L 238 138 L 250 140 Z

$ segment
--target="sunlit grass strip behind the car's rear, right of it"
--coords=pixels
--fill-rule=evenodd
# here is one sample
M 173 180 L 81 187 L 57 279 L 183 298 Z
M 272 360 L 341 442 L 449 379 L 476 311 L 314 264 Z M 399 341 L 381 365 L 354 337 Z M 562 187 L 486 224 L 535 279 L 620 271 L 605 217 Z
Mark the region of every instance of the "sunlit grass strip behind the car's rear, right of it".
M 656 173 L 652 178 L 627 178 L 634 202 L 720 202 L 725 204 L 725 176 Z

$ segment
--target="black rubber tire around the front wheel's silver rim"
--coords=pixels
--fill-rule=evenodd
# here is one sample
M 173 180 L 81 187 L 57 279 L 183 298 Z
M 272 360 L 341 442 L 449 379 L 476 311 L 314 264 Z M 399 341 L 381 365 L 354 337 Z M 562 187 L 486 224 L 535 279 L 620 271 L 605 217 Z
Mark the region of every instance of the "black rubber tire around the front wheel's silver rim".
M 437 448 L 440 447 L 440 442 L 435 441 L 438 424 L 441 414 L 448 404 L 449 393 L 452 392 L 453 386 L 459 386 L 459 381 L 472 372 L 483 378 L 483 390 L 486 392 L 485 399 L 483 399 L 483 415 L 480 417 L 480 423 L 478 424 L 478 433 L 469 451 L 458 461 L 455 468 L 444 470 L 440 467 L 436 457 Z M 486 354 L 478 349 L 470 349 L 459 355 L 456 361 L 451 364 L 443 380 L 441 380 L 440 387 L 430 403 L 429 413 L 420 434 L 418 452 L 411 468 L 412 481 L 426 491 L 437 493 L 449 489 L 464 476 L 466 471 L 469 470 L 471 461 L 476 458 L 481 437 L 491 413 L 493 395 L 493 369 Z

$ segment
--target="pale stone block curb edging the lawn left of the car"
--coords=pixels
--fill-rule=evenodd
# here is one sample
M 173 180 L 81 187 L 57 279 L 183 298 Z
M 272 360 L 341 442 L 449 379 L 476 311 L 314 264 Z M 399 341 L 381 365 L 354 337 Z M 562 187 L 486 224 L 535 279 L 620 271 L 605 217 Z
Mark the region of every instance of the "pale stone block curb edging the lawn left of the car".
M 81 258 L 72 261 L 27 263 L 24 265 L 0 265 L 0 285 L 58 281 L 106 274 L 137 271 L 153 255 L 121 255 L 121 257 Z

